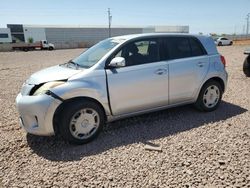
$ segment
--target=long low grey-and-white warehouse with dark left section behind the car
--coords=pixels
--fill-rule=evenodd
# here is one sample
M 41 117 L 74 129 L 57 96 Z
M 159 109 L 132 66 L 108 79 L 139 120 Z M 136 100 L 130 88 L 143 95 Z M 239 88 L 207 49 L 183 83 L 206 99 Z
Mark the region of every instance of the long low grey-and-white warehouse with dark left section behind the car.
M 18 25 L 8 24 L 13 42 L 47 40 L 58 48 L 74 48 L 93 45 L 108 38 L 107 26 L 60 26 L 60 25 Z M 189 26 L 150 26 L 111 28 L 111 36 L 138 33 L 189 33 Z

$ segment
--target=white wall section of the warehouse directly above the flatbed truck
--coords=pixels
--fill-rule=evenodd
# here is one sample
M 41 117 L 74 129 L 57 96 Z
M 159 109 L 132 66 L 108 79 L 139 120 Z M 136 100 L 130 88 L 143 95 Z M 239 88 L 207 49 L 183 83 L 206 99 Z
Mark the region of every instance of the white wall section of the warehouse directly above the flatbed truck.
M 46 40 L 46 34 L 44 28 L 35 28 L 35 27 L 23 27 L 23 33 L 25 42 L 29 42 L 29 38 L 33 38 L 33 41 Z

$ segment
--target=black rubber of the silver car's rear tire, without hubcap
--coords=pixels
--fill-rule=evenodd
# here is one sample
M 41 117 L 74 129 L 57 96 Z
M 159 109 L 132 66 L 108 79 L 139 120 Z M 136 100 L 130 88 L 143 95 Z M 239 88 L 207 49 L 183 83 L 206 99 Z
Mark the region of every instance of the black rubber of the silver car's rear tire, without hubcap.
M 208 107 L 205 106 L 205 104 L 203 102 L 203 96 L 204 96 L 204 93 L 205 93 L 206 89 L 211 85 L 215 85 L 215 86 L 218 87 L 218 89 L 220 91 L 220 96 L 219 96 L 219 100 L 218 100 L 217 104 L 212 108 L 208 108 Z M 195 103 L 196 108 L 201 110 L 201 111 L 205 111 L 205 112 L 211 112 L 211 111 L 216 110 L 218 108 L 218 106 L 220 105 L 220 103 L 221 103 L 222 93 L 223 93 L 222 87 L 218 82 L 213 81 L 213 80 L 208 81 L 207 83 L 205 83 L 203 85 L 203 87 L 200 90 L 198 99 L 197 99 L 197 101 Z

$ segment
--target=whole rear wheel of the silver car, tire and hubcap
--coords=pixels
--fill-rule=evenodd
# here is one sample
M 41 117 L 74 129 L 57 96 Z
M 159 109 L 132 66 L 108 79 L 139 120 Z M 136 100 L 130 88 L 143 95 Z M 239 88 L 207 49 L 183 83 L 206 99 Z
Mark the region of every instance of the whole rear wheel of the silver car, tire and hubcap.
M 204 112 L 214 111 L 220 105 L 221 97 L 221 85 L 214 80 L 208 81 L 202 86 L 195 107 Z

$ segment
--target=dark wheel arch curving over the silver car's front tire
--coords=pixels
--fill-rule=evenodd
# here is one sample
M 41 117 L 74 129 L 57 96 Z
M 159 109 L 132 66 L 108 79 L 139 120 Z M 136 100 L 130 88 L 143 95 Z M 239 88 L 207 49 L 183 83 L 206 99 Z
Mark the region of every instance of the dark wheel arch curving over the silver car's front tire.
M 84 97 L 81 96 L 81 97 L 70 98 L 70 99 L 64 100 L 64 101 L 57 107 L 57 109 L 56 109 L 56 111 L 55 111 L 55 113 L 54 113 L 54 115 L 53 115 L 53 129 L 54 129 L 55 135 L 57 135 L 57 134 L 59 133 L 59 127 L 58 127 L 58 126 L 59 126 L 59 123 L 60 123 L 60 121 L 59 121 L 59 116 L 61 115 L 61 113 L 62 113 L 64 107 L 65 107 L 67 104 L 69 104 L 69 103 L 71 103 L 71 102 L 73 102 L 73 101 L 81 101 L 81 100 L 91 101 L 91 102 L 97 104 L 98 106 L 100 106 L 101 109 L 102 109 L 102 111 L 103 111 L 103 114 L 104 114 L 104 120 L 105 120 L 105 122 L 107 121 L 107 114 L 106 114 L 106 111 L 105 111 L 103 105 L 102 105 L 98 100 L 96 100 L 96 99 L 94 99 L 94 98 L 91 98 L 91 97 L 85 97 L 85 96 L 84 96 Z

